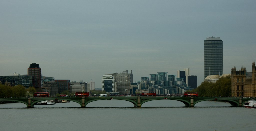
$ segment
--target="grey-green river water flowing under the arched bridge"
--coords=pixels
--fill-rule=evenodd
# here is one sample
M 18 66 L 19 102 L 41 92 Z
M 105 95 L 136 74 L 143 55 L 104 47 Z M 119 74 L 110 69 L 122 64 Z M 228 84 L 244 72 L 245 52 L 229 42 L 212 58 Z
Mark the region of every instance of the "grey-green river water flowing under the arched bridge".
M 74 102 L 55 105 L 0 104 L 1 130 L 255 130 L 256 109 L 202 101 L 196 107 L 175 100 L 154 100 L 141 108 L 123 100 L 99 100 L 79 108 Z

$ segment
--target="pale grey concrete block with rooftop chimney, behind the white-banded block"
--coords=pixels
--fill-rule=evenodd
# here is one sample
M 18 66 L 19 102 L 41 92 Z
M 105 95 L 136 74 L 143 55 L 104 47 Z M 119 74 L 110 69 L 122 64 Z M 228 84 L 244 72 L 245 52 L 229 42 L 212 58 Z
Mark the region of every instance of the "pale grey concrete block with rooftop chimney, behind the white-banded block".
M 116 91 L 120 94 L 130 94 L 130 85 L 133 83 L 133 74 L 128 73 L 128 70 L 122 73 L 105 74 L 112 75 L 116 81 Z

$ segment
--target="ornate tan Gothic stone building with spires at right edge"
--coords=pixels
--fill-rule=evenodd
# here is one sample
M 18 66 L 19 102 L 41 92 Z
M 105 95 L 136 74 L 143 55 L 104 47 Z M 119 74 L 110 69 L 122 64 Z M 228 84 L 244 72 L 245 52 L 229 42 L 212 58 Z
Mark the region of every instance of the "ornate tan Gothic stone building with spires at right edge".
M 256 97 L 256 66 L 252 63 L 252 72 L 247 72 L 245 67 L 231 69 L 232 97 Z

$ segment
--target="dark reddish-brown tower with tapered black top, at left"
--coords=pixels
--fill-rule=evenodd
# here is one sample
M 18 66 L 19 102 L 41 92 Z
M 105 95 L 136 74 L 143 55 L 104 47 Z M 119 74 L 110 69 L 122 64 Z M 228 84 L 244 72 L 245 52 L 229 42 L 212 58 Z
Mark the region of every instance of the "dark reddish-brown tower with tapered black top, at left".
M 28 68 L 28 75 L 29 76 L 33 76 L 33 86 L 36 89 L 41 89 L 42 85 L 41 85 L 41 79 L 42 79 L 42 73 L 41 73 L 41 68 L 39 67 L 39 64 L 36 63 L 32 63 L 30 64 L 29 68 Z

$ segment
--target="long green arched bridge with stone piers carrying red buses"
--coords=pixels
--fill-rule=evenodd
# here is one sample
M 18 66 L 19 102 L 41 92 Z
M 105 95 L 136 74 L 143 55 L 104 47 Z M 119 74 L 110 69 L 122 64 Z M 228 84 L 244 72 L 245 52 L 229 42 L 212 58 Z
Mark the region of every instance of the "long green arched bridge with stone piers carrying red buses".
M 40 101 L 44 100 L 69 100 L 80 104 L 81 107 L 86 107 L 90 102 L 96 100 L 126 100 L 133 103 L 134 107 L 141 107 L 143 103 L 152 100 L 177 100 L 185 104 L 185 107 L 194 107 L 195 104 L 201 101 L 214 100 L 214 101 L 225 101 L 231 104 L 232 107 L 242 107 L 242 105 L 250 100 L 250 98 L 241 98 L 241 97 L 141 97 L 141 96 L 132 96 L 132 97 L 123 97 L 123 96 L 108 96 L 108 97 L 23 97 L 23 98 L 0 98 L 0 101 L 15 101 L 24 103 L 28 108 L 33 108 L 34 105 Z

